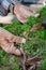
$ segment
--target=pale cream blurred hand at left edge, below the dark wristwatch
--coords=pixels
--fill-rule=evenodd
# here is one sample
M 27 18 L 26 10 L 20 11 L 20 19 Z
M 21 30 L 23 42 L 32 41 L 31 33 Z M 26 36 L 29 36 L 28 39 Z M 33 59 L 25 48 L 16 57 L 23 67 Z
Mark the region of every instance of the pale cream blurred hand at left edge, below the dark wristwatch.
M 14 19 L 14 15 L 12 13 L 9 13 L 6 16 L 0 15 L 1 24 L 11 24 L 13 19 Z

